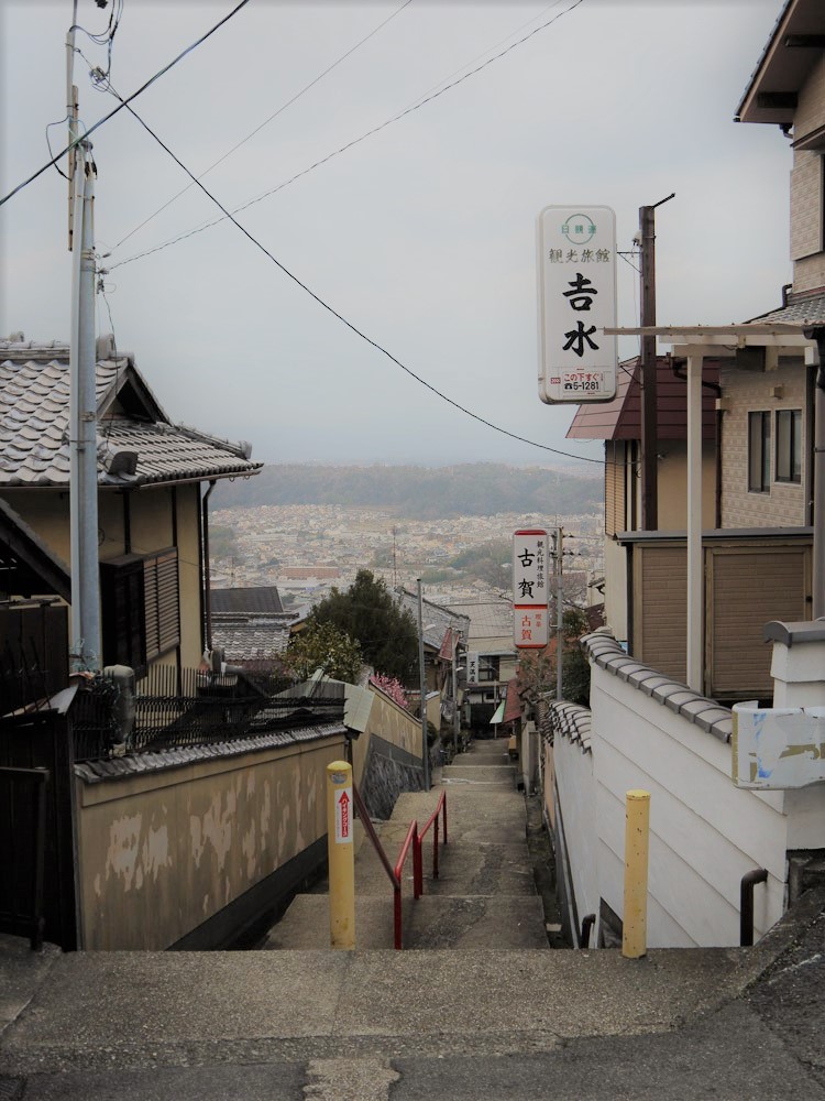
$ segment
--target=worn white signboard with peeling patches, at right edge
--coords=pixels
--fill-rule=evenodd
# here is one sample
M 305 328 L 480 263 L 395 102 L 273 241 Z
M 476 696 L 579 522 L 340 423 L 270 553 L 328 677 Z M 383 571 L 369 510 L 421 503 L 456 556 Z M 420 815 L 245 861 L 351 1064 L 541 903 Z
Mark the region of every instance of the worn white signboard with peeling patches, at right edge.
M 734 705 L 737 787 L 787 791 L 825 781 L 825 707 Z

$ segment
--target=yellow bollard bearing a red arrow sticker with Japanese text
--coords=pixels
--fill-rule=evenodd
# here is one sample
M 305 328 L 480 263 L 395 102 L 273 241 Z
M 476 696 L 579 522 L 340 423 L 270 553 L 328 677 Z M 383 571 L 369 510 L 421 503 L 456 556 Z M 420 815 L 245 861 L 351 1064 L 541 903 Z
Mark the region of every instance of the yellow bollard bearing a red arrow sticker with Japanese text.
M 355 947 L 355 850 L 352 765 L 327 765 L 327 847 L 329 851 L 329 936 L 331 948 Z

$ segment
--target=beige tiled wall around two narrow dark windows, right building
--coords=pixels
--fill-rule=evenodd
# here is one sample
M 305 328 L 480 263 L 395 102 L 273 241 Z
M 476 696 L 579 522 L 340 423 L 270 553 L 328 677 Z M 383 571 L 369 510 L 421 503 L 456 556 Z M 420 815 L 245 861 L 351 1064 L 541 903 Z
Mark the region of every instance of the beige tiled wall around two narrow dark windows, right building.
M 807 465 L 809 424 L 805 417 L 806 370 L 799 361 L 774 371 L 740 371 L 722 361 L 719 372 L 723 399 L 729 405 L 722 426 L 722 526 L 723 527 L 803 527 L 806 524 L 804 480 L 789 484 L 773 480 L 776 456 L 776 417 L 778 410 L 802 411 L 802 458 Z M 773 391 L 781 388 L 781 397 Z M 770 492 L 748 490 L 748 413 L 771 413 Z M 804 476 L 803 476 L 804 478 Z

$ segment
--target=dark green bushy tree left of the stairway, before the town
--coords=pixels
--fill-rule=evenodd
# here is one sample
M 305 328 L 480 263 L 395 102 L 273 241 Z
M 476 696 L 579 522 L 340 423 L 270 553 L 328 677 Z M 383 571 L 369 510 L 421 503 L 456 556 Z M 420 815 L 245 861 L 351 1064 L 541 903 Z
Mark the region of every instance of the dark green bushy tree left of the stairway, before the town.
M 349 589 L 332 589 L 312 609 L 310 623 L 331 623 L 354 639 L 376 673 L 411 684 L 418 675 L 418 631 L 382 578 L 360 569 Z

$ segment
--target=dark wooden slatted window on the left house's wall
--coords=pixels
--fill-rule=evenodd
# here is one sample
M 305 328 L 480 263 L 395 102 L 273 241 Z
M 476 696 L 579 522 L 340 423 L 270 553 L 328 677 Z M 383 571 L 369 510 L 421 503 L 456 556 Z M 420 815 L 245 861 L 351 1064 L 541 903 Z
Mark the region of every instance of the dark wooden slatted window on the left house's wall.
M 135 672 L 180 642 L 177 549 L 100 564 L 103 661 Z

